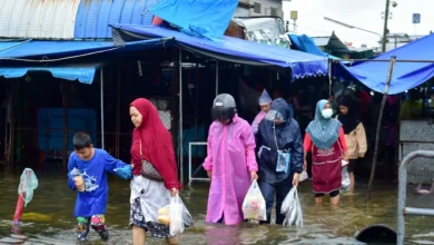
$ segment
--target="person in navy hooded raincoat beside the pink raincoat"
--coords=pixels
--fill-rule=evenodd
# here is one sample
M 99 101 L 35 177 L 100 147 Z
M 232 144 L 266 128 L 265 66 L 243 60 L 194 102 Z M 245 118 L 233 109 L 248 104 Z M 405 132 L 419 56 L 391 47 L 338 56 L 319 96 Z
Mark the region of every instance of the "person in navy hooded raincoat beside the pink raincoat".
M 303 171 L 303 140 L 298 122 L 292 117 L 288 104 L 278 98 L 273 101 L 256 137 L 259 156 L 259 188 L 270 222 L 276 196 L 276 224 L 282 225 L 282 203 L 293 186 L 298 185 Z

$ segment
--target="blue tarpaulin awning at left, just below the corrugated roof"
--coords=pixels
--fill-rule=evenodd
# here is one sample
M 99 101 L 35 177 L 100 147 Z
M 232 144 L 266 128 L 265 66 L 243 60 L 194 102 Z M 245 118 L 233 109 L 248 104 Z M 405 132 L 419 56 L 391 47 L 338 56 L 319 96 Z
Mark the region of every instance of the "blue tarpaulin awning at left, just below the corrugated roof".
M 116 46 L 112 41 L 0 41 L 0 77 L 19 78 L 29 71 L 48 71 L 56 78 L 92 84 L 96 70 L 110 56 L 171 46 L 155 38 Z M 91 62 L 83 58 L 92 57 Z

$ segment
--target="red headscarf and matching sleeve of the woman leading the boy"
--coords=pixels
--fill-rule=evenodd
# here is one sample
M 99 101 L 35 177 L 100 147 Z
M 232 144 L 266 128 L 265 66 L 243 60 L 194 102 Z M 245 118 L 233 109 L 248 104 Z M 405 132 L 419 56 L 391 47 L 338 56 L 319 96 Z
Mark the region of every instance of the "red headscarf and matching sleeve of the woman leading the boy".
M 142 116 L 141 125 L 132 133 L 132 143 L 141 140 L 141 151 L 145 160 L 152 164 L 165 180 L 166 188 L 181 188 L 178 182 L 178 168 L 175 160 L 175 150 L 170 133 L 162 125 L 155 106 L 147 99 L 139 98 L 131 102 Z M 132 149 L 132 148 L 131 148 Z M 132 163 L 137 154 L 131 154 Z

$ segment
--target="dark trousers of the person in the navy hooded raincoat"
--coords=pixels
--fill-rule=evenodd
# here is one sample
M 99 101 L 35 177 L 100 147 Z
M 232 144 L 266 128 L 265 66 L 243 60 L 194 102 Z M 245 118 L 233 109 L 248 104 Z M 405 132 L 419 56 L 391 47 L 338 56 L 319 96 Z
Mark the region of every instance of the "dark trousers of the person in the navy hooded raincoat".
M 276 196 L 276 224 L 282 225 L 285 219 L 285 215 L 280 214 L 282 203 L 284 202 L 286 195 L 288 195 L 293 185 L 288 183 L 288 186 L 275 186 L 266 182 L 259 182 L 259 188 L 265 198 L 267 205 L 267 222 L 272 222 L 272 210 L 274 206 L 274 197 Z

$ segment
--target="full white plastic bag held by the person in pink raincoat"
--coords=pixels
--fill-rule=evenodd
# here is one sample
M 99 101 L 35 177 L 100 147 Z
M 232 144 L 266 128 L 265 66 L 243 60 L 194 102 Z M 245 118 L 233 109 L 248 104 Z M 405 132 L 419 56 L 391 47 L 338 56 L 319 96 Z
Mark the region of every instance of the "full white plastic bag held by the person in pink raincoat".
M 243 214 L 245 219 L 267 220 L 267 207 L 256 180 L 251 183 L 244 198 Z

